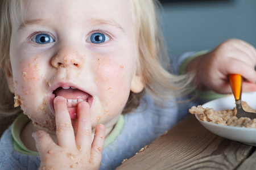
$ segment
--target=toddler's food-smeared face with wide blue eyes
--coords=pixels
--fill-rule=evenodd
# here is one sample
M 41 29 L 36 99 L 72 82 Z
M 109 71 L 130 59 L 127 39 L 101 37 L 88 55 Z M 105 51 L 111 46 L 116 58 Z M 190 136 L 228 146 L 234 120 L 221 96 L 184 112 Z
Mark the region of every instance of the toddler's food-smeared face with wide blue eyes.
M 27 3 L 26 3 L 27 2 Z M 142 90 L 130 1 L 25 1 L 12 19 L 11 67 L 17 104 L 35 124 L 55 130 L 53 99 L 90 105 L 92 128 L 112 126 L 130 90 Z

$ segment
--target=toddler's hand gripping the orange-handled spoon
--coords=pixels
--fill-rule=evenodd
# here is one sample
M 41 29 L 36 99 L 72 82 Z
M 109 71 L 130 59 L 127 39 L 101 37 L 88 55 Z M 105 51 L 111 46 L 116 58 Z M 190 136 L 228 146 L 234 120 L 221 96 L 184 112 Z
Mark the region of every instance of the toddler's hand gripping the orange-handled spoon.
M 195 71 L 197 87 L 221 94 L 231 93 L 228 75 L 243 76 L 243 92 L 256 91 L 256 50 L 245 41 L 230 39 L 191 61 L 187 71 Z

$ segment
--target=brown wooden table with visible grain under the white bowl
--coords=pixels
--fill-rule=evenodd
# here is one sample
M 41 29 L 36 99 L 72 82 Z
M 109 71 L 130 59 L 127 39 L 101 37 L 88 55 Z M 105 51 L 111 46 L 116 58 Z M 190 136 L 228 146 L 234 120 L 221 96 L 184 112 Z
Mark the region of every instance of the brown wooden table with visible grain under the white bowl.
M 218 137 L 189 115 L 117 169 L 256 169 L 255 149 Z

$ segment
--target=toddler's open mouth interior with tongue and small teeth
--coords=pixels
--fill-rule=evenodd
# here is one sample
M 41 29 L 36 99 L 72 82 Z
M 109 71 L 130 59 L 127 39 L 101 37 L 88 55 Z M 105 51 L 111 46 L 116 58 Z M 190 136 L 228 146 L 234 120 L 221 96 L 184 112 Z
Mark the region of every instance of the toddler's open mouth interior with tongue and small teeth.
M 55 97 L 63 96 L 67 100 L 68 112 L 71 119 L 77 118 L 77 104 L 79 102 L 86 101 L 89 105 L 92 104 L 92 96 L 75 87 L 59 87 L 53 91 L 53 94 Z

